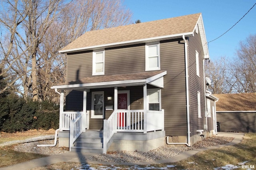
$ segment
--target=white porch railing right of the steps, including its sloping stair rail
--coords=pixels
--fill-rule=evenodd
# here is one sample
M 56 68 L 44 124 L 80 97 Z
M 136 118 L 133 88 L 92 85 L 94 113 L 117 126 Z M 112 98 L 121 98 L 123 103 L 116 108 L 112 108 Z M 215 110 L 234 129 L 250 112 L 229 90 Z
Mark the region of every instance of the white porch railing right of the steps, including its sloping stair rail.
M 146 117 L 146 121 L 144 121 Z M 144 128 L 146 127 L 146 129 Z M 104 120 L 103 153 L 107 152 L 107 143 L 116 132 L 141 132 L 164 130 L 164 109 L 162 111 L 124 110 L 114 111 Z

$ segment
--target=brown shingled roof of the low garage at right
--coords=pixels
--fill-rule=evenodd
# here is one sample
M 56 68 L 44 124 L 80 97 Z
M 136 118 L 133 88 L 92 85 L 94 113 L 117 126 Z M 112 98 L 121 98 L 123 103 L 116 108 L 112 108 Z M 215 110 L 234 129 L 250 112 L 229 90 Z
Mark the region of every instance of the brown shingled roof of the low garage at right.
M 216 111 L 255 111 L 256 93 L 214 94 L 219 98 Z

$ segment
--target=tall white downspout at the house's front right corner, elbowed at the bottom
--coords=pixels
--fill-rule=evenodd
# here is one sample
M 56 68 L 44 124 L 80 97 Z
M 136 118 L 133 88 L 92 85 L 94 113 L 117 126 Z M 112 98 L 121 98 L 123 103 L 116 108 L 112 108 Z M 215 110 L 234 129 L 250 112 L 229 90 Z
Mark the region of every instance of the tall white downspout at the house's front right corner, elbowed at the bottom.
M 188 43 L 185 39 L 185 35 L 182 35 L 182 39 L 185 43 L 185 74 L 186 74 L 186 107 L 187 107 L 187 121 L 188 121 L 188 143 L 169 143 L 168 141 L 168 137 L 167 137 L 167 141 L 166 143 L 167 144 L 173 144 L 173 145 L 180 145 L 180 144 L 184 144 L 184 145 L 188 145 L 188 147 L 191 146 L 191 143 L 190 143 L 190 112 L 189 112 L 189 89 L 188 89 Z

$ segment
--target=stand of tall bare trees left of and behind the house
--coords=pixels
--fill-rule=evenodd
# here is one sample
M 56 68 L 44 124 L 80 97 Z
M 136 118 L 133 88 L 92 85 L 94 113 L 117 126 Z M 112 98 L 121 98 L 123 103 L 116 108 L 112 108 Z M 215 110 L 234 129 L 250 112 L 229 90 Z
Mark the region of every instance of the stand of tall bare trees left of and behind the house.
M 34 100 L 51 98 L 50 86 L 64 82 L 60 49 L 86 31 L 131 23 L 120 0 L 6 0 L 1 9 L 0 68 L 12 80 L 6 89 L 16 83 L 16 92 Z

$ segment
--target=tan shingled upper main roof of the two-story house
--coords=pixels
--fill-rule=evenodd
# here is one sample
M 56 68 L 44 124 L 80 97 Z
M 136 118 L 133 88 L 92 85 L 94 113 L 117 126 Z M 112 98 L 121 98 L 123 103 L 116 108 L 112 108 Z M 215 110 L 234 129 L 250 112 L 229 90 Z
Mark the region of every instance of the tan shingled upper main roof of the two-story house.
M 200 13 L 88 31 L 61 51 L 193 32 Z

